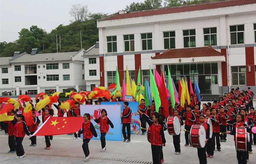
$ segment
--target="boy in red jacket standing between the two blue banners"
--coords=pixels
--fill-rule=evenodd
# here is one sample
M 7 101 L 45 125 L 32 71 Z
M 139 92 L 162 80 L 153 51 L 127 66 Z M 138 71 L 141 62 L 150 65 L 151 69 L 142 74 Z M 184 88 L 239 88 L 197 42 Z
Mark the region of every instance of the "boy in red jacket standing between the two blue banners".
M 120 116 L 122 118 L 122 132 L 124 137 L 124 142 L 131 142 L 131 108 L 128 107 L 129 103 L 127 101 L 124 102 L 125 109 L 123 110 L 123 115 Z M 127 136 L 125 129 L 127 130 Z M 127 141 L 126 141 L 127 140 Z

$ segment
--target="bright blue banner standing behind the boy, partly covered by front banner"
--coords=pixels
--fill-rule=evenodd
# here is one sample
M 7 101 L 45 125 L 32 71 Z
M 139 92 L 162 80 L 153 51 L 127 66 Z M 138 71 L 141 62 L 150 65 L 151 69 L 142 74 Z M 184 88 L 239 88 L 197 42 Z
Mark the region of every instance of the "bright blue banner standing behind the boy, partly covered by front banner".
M 124 102 L 101 102 L 103 105 L 121 105 L 121 112 L 124 110 Z M 140 132 L 140 120 L 137 114 L 138 102 L 129 102 L 128 107 L 131 108 L 131 134 L 138 134 Z M 119 115 L 120 118 L 121 114 Z M 112 120 L 111 120 L 112 121 Z M 115 126 L 115 125 L 114 125 Z

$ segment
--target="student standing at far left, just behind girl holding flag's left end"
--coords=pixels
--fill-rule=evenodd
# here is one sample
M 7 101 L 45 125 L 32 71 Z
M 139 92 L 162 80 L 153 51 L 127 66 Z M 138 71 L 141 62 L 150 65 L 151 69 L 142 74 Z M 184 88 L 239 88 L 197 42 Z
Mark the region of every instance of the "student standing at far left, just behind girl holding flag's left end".
M 12 110 L 11 111 L 11 116 L 14 116 L 15 115 L 15 111 Z M 8 152 L 16 152 L 16 143 L 15 143 L 15 124 L 17 122 L 17 119 L 16 117 L 14 117 L 14 119 L 12 121 L 9 121 L 8 123 L 8 144 L 9 144 L 9 148 L 10 148 L 10 151 Z

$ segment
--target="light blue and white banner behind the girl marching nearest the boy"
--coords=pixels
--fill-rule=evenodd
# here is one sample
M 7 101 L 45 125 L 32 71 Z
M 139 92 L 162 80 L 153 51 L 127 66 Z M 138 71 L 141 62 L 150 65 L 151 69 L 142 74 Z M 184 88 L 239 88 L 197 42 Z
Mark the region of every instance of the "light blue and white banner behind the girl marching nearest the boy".
M 102 103 L 101 103 L 102 104 Z M 113 123 L 114 128 L 112 129 L 109 126 L 109 131 L 106 134 L 106 140 L 113 140 L 113 141 L 123 141 L 122 137 L 122 126 L 121 126 L 121 110 L 120 105 L 80 105 L 80 113 L 81 116 L 84 116 L 85 113 L 89 113 L 91 116 L 91 122 L 94 125 L 94 128 L 100 138 L 100 131 L 99 131 L 99 123 L 96 123 L 93 120 L 93 117 L 96 119 L 101 116 L 101 110 L 105 109 L 107 111 L 107 117 Z M 92 139 L 96 140 L 93 136 Z

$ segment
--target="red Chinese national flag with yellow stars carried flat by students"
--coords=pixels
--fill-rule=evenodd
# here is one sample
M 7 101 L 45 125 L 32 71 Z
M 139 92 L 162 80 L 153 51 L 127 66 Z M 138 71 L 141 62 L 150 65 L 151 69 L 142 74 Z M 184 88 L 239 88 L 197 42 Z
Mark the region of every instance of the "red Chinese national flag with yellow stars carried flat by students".
M 84 117 L 49 117 L 33 136 L 69 134 L 82 128 Z

